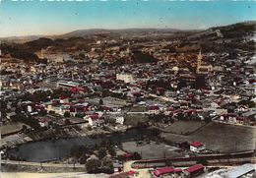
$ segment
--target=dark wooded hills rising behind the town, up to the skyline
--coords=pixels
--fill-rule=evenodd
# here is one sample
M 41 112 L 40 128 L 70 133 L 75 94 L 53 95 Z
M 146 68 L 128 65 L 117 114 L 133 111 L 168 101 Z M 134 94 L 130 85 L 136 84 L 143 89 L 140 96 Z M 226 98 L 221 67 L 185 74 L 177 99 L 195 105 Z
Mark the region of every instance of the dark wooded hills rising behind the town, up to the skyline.
M 223 37 L 218 36 L 221 31 Z M 149 40 L 149 37 L 160 36 L 160 38 L 168 39 L 167 36 L 182 36 L 178 37 L 181 40 L 179 46 L 175 49 L 176 52 L 198 51 L 201 48 L 203 51 L 231 51 L 233 49 L 241 49 L 253 51 L 255 45 L 253 42 L 243 43 L 244 37 L 249 39 L 256 31 L 256 21 L 237 23 L 233 25 L 214 27 L 208 30 L 172 30 L 172 29 L 127 29 L 127 30 L 74 30 L 61 35 L 42 36 L 30 35 L 21 37 L 6 37 L 0 38 L 1 49 L 3 54 L 11 54 L 13 57 L 25 60 L 37 60 L 34 52 L 41 48 L 51 47 L 57 51 L 90 51 L 90 43 L 97 39 L 112 39 L 121 35 L 133 36 L 133 39 L 142 41 Z M 176 32 L 176 33 L 175 33 Z M 183 35 L 183 33 L 185 35 Z M 154 34 L 154 35 L 153 35 Z M 166 35 L 165 35 L 166 34 Z M 175 35 L 177 34 L 177 35 Z M 30 39 L 30 40 L 29 40 Z M 152 38 L 151 38 L 152 39 Z M 23 41 L 23 43 L 20 43 Z M 221 44 L 224 41 L 225 44 Z M 18 43 L 17 43 L 18 42 Z M 218 45 L 216 45 L 218 43 Z M 133 56 L 135 63 L 156 62 L 153 56 L 143 53 L 136 53 Z

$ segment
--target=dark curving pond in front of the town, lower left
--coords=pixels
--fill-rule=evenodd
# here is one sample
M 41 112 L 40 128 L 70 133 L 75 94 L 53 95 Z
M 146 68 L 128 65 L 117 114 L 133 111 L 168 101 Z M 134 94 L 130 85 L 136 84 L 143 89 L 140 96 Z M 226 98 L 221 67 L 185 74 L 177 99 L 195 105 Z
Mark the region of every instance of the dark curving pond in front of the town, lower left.
M 55 141 L 38 141 L 27 143 L 18 148 L 11 148 L 8 151 L 8 157 L 21 157 L 26 161 L 43 162 L 56 159 L 67 158 L 73 147 L 86 145 L 93 147 L 99 145 L 102 141 L 111 141 L 112 143 L 129 142 L 140 139 L 143 136 L 153 136 L 150 130 L 128 130 L 125 133 L 117 133 L 103 137 L 77 137 L 69 139 L 58 139 Z

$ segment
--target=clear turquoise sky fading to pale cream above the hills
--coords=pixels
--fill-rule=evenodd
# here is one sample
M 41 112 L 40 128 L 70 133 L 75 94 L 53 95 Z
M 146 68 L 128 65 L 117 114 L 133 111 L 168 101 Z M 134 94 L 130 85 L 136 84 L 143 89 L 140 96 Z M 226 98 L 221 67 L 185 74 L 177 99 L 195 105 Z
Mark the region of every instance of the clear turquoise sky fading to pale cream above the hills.
M 1 37 L 84 29 L 202 30 L 256 20 L 256 1 L 0 1 Z

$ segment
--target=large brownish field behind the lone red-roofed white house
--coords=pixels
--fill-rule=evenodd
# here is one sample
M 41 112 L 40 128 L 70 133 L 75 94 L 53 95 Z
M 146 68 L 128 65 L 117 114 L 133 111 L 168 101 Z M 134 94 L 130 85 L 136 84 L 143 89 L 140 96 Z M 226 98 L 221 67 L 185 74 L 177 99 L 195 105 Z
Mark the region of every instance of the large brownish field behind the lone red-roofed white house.
M 206 148 L 221 152 L 242 151 L 256 147 L 256 128 L 222 123 L 210 123 L 188 136 L 162 133 L 161 137 L 172 142 L 199 141 L 205 144 Z

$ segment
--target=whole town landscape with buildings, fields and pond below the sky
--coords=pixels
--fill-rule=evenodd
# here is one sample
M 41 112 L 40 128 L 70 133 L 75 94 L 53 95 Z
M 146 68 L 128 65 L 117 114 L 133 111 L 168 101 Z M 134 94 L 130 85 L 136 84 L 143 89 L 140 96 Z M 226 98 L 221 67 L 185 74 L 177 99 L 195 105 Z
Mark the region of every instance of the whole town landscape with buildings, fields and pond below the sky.
M 255 26 L 3 39 L 1 169 L 254 177 Z

